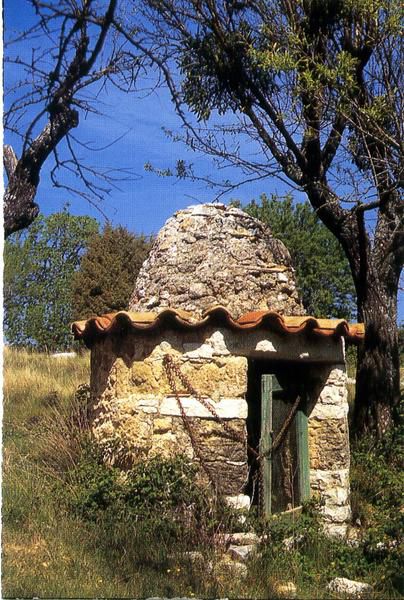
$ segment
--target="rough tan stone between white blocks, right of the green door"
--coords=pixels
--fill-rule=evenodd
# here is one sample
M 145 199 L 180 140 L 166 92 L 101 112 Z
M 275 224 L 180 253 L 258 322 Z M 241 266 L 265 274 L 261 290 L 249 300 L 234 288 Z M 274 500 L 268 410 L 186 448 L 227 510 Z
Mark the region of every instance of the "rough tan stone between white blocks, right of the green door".
M 348 423 L 343 419 L 310 419 L 309 456 L 312 469 L 349 467 Z

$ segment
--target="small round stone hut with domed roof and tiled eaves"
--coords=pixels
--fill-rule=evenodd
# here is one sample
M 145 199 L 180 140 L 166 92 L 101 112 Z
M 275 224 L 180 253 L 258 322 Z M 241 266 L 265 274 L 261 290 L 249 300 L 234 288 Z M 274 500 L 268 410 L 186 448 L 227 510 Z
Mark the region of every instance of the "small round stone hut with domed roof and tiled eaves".
M 230 503 L 267 513 L 318 494 L 326 529 L 345 533 L 344 341 L 363 326 L 304 314 L 290 255 L 263 223 L 221 204 L 179 211 L 129 310 L 73 332 L 91 348 L 92 428 L 109 460 L 180 453 Z

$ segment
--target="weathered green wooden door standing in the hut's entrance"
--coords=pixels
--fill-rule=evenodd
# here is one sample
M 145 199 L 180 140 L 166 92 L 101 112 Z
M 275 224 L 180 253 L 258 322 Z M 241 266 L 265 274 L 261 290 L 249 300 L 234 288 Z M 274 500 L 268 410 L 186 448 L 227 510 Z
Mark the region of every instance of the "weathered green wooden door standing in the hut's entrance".
M 303 398 L 304 401 L 304 398 Z M 266 516 L 299 506 L 310 495 L 307 416 L 302 401 L 283 442 L 272 442 L 291 410 L 287 394 L 275 375 L 261 378 L 262 506 Z

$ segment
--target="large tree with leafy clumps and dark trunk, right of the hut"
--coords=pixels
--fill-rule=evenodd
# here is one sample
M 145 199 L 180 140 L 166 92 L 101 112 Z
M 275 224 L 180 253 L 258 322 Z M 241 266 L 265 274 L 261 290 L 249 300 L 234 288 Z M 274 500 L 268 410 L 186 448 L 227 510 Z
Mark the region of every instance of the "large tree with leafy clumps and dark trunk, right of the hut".
M 304 192 L 344 249 L 366 326 L 354 423 L 358 432 L 382 436 L 400 399 L 400 3 L 142 4 L 141 42 L 123 22 L 116 27 L 153 53 L 189 146 L 217 157 L 219 167 L 237 165 L 244 180 L 277 176 Z M 192 167 L 180 166 L 192 176 Z

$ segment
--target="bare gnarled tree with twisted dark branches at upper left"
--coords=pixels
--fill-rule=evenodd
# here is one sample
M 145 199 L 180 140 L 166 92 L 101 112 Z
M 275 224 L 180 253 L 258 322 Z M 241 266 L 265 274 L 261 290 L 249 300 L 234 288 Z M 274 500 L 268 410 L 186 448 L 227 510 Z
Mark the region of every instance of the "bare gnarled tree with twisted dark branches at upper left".
M 6 78 L 4 128 L 6 135 L 21 142 L 18 157 L 11 146 L 4 147 L 6 237 L 37 217 L 35 197 L 48 157 L 54 161 L 53 184 L 91 202 L 102 198 L 116 181 L 117 174 L 110 169 L 83 163 L 80 153 L 85 144 L 73 130 L 80 114 L 98 112 L 97 93 L 107 82 L 130 91 L 136 80 L 140 63 L 111 30 L 117 2 L 28 0 L 36 14 L 32 26 L 5 45 L 5 68 L 11 65 L 13 71 Z M 19 72 L 22 76 L 16 82 L 14 73 Z M 76 176 L 81 185 L 72 187 L 60 179 L 60 169 Z

